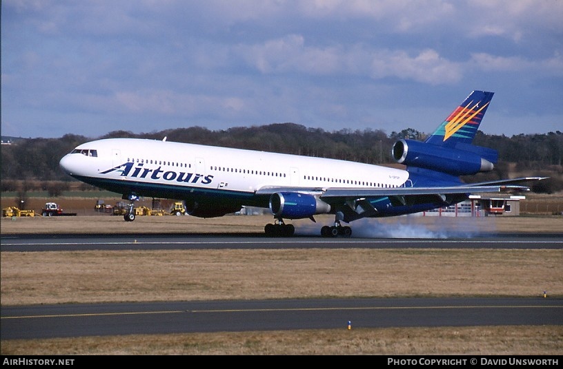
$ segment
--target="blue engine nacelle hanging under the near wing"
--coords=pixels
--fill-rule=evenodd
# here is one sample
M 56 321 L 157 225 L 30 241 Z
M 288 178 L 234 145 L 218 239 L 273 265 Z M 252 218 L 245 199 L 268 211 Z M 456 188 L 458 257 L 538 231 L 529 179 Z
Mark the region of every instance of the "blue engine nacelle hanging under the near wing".
M 270 211 L 278 218 L 303 219 L 330 213 L 330 205 L 307 193 L 277 192 L 270 196 Z

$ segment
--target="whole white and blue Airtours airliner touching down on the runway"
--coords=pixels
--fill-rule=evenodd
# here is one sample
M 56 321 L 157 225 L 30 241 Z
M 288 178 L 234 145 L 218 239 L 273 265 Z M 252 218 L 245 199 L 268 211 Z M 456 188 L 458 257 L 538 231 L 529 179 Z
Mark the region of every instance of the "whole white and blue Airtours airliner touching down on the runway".
M 466 200 L 471 193 L 529 191 L 540 177 L 464 184 L 460 176 L 490 171 L 497 151 L 472 145 L 493 92 L 473 91 L 426 141 L 398 140 L 392 154 L 406 169 L 359 162 L 163 140 L 108 138 L 83 143 L 61 158 L 70 176 L 131 201 L 141 196 L 184 200 L 190 215 L 213 218 L 242 207 L 269 208 L 266 235 L 295 232 L 284 219 L 335 215 L 324 236 L 349 236 L 360 218 L 417 213 Z

